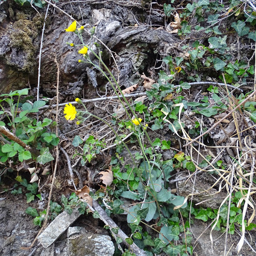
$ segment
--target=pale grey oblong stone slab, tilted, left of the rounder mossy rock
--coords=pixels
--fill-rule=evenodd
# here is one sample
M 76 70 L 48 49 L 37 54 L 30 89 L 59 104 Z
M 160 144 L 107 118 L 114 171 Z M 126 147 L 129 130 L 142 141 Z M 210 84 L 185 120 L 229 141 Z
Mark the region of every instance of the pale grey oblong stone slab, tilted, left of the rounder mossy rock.
M 80 215 L 77 209 L 73 209 L 71 215 L 66 211 L 61 212 L 37 238 L 42 247 L 53 244 Z

